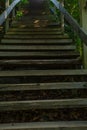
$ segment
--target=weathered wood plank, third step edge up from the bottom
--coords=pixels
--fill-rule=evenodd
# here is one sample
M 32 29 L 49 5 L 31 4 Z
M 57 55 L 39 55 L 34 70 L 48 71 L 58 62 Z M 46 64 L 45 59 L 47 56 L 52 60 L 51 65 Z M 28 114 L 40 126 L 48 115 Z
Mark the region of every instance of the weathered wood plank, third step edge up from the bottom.
M 1 91 L 87 89 L 87 82 L 0 84 Z

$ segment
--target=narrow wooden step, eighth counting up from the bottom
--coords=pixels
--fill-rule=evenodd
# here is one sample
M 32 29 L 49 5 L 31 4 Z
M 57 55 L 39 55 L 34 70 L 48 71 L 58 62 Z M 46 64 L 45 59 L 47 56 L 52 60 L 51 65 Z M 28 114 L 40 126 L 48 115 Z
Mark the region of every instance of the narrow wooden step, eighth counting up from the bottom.
M 18 43 L 18 44 L 70 44 L 72 43 L 72 39 L 2 39 L 1 43 Z

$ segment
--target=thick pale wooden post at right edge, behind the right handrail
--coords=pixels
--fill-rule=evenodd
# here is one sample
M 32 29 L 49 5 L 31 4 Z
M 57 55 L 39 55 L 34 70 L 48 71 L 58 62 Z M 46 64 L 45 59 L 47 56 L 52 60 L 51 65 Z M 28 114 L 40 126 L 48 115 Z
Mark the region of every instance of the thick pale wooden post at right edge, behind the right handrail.
M 80 0 L 81 25 L 87 33 L 87 0 Z M 83 65 L 87 69 L 87 46 L 83 43 Z

